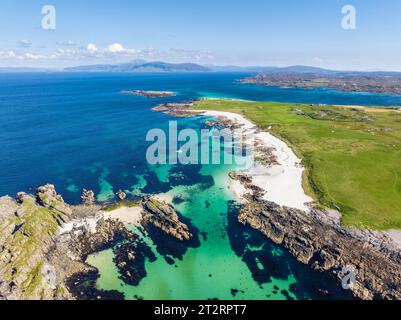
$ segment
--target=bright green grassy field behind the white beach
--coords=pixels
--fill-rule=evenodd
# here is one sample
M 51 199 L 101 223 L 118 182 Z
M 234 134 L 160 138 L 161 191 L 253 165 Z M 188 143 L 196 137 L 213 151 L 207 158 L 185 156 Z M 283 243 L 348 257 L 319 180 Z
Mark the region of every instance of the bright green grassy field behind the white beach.
M 303 159 L 304 188 L 343 223 L 401 229 L 401 112 L 373 107 L 202 100 L 195 109 L 236 112 L 286 141 Z

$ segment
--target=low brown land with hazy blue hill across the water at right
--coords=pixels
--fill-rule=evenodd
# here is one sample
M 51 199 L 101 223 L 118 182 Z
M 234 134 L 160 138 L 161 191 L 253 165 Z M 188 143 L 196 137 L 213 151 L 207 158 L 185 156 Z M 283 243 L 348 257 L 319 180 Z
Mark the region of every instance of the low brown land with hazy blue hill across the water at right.
M 401 94 L 401 73 L 398 72 L 332 71 L 300 66 L 263 72 L 241 82 L 281 88 Z

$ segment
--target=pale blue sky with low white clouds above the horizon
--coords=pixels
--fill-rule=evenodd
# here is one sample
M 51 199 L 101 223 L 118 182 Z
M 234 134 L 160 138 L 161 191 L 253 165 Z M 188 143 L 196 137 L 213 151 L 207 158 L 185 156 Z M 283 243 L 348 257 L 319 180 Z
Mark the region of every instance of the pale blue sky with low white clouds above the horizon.
M 56 29 L 41 28 L 42 7 Z M 356 30 L 341 8 L 356 9 Z M 134 59 L 401 71 L 399 0 L 1 0 L 0 67 Z

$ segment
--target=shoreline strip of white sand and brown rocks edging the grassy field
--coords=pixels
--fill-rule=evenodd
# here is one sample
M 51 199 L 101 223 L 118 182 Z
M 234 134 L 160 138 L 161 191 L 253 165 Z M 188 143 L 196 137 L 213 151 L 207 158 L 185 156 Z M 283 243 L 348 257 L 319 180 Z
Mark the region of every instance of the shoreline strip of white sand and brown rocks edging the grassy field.
M 258 142 L 253 148 L 255 154 L 258 155 L 257 148 L 261 144 L 270 148 L 277 160 L 267 165 L 256 163 L 248 170 L 230 174 L 229 188 L 239 200 L 240 223 L 282 245 L 299 262 L 337 279 L 343 288 L 347 270 L 353 270 L 355 282 L 344 289 L 349 289 L 355 298 L 401 297 L 400 230 L 374 231 L 343 226 L 340 212 L 319 209 L 309 201 L 312 199 L 305 194 L 302 185 L 302 162 L 285 142 L 261 132 L 239 114 L 193 111 L 215 117 L 216 123 L 228 128 L 253 132 Z

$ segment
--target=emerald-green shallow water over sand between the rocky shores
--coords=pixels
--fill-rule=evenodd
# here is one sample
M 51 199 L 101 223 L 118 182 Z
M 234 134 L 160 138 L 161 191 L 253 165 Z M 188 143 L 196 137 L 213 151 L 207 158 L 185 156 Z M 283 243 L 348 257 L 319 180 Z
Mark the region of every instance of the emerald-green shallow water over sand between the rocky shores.
M 259 285 L 252 278 L 248 266 L 231 247 L 227 235 L 227 212 L 228 201 L 233 197 L 227 174 L 232 169 L 233 166 L 203 166 L 201 174 L 213 177 L 212 187 L 177 186 L 165 194 L 169 199 L 179 196 L 185 200 L 175 209 L 190 218 L 200 233 L 206 234 L 206 239 L 200 237 L 199 248 L 190 248 L 182 261 L 176 260 L 174 265 L 169 265 L 156 252 L 151 239 L 145 238 L 157 260 L 147 262 L 148 275 L 138 286 L 126 285 L 119 279 L 111 249 L 91 255 L 88 262 L 97 267 L 101 275 L 98 288 L 119 290 L 127 299 L 233 299 L 232 289 L 239 290 L 235 295 L 238 299 L 266 299 L 267 295 L 270 295 L 270 299 L 285 299 L 281 290 L 290 292 L 290 285 L 296 282 L 293 276 L 285 280 L 272 279 L 269 283 Z M 165 176 L 166 168 L 153 170 Z M 279 249 L 276 254 L 281 254 Z

